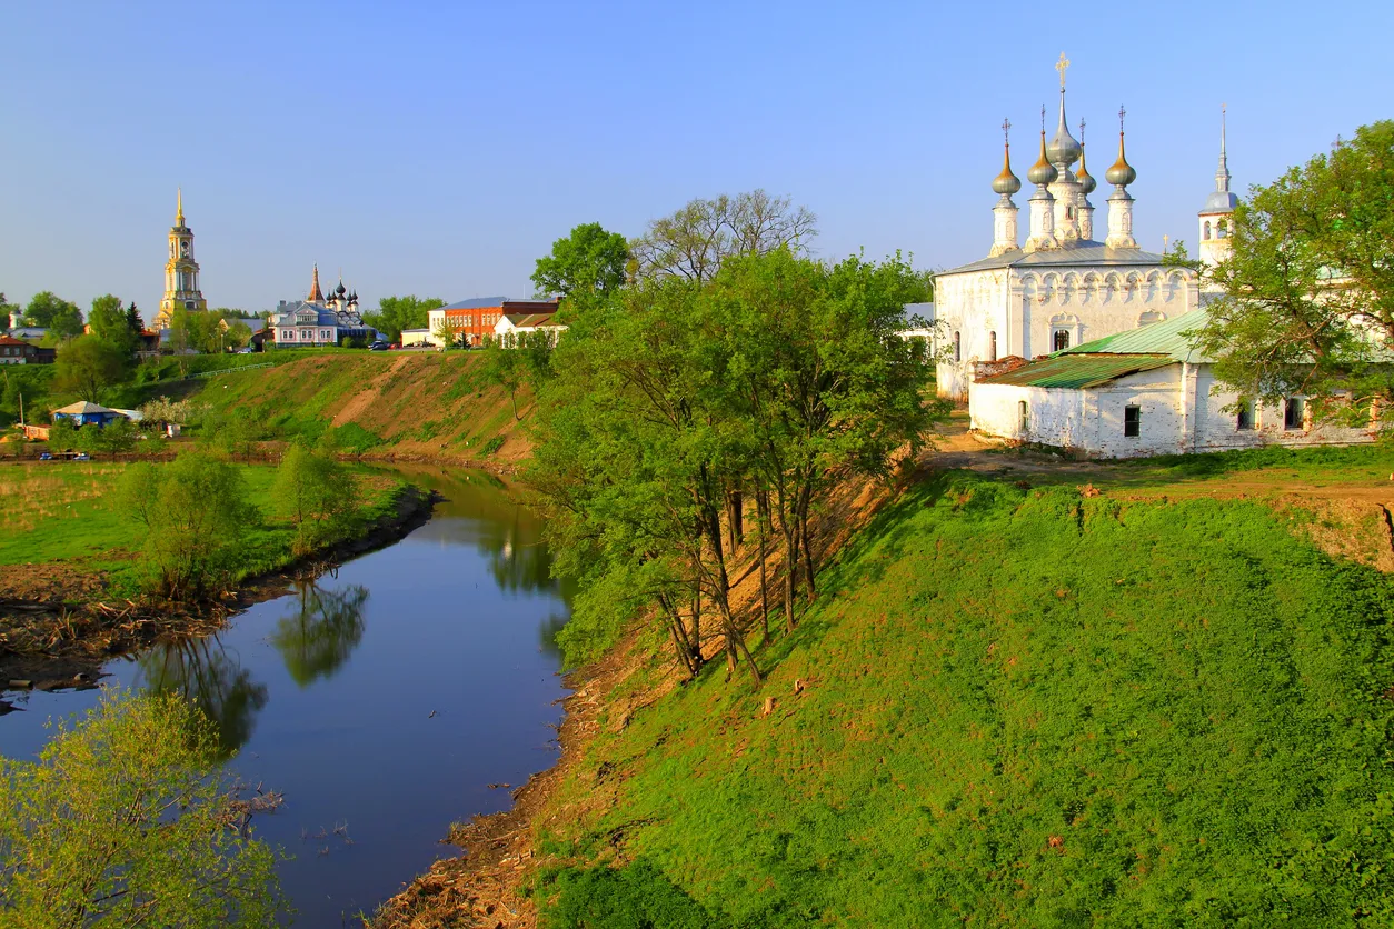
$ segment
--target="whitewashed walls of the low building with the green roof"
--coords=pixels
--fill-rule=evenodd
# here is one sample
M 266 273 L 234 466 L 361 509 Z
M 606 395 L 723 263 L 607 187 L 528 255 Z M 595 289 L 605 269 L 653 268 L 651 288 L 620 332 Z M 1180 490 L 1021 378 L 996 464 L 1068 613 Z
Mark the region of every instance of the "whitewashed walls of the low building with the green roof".
M 1224 409 L 1238 396 L 1213 393 L 1213 387 L 1210 365 L 1177 362 L 1087 390 L 972 384 L 969 409 L 973 428 L 987 435 L 1082 450 L 1098 458 L 1374 440 L 1370 430 L 1334 425 L 1284 429 L 1281 407 L 1260 407 L 1255 429 L 1238 429 L 1236 414 Z M 1025 430 L 1022 401 L 1027 404 Z M 1138 436 L 1124 435 L 1124 409 L 1129 405 L 1140 409 Z

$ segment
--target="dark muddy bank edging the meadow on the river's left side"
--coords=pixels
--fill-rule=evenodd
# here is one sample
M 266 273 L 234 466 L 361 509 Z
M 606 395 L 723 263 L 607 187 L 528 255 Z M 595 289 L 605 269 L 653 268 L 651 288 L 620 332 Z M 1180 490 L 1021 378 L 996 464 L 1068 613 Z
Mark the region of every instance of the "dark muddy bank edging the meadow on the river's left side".
M 39 465 L 45 467 L 52 465 Z M 102 478 L 107 485 L 112 481 L 110 474 Z M 92 506 L 100 507 L 99 500 L 100 494 Z M 315 577 L 403 538 L 429 520 L 434 500 L 431 492 L 403 482 L 372 486 L 357 529 L 307 554 L 293 554 L 275 535 L 263 533 L 266 540 L 247 553 L 248 563 L 263 567 L 243 574 L 220 599 L 202 604 L 155 602 L 130 589 L 130 578 L 112 571 L 113 565 L 128 571 L 134 559 L 120 549 L 74 560 L 7 564 L 0 581 L 0 692 L 91 685 L 96 669 L 112 655 L 171 637 L 215 632 L 234 613 L 275 596 L 287 579 Z M 96 520 L 95 514 L 82 515 Z M 50 532 L 61 532 L 47 525 Z M 102 539 L 100 531 L 93 535 Z

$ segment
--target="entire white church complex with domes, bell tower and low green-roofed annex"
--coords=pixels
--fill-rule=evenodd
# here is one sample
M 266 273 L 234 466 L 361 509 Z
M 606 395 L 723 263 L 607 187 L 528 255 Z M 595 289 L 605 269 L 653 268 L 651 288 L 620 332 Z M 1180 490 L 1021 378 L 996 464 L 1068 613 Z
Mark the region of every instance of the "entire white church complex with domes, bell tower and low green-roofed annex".
M 1124 149 L 1122 110 L 1118 159 L 1104 173 L 1114 188 L 1107 231 L 1094 238 L 1097 182 L 1065 120 L 1068 64 L 1061 56 L 1055 135 L 1047 142 L 1041 130 L 1040 157 L 1026 173 L 1036 191 L 1025 245 L 1008 143 L 993 181 L 999 199 L 988 256 L 935 276 L 937 333 L 947 340 L 940 396 L 967 401 L 980 433 L 1093 457 L 1372 442 L 1373 429 L 1315 425 L 1305 397 L 1269 408 L 1217 387 L 1190 333 L 1218 294 L 1203 292 L 1189 267 L 1138 247 L 1128 192 L 1138 173 Z M 1209 265 L 1231 245 L 1230 181 L 1221 124 L 1216 189 L 1199 213 L 1199 256 Z

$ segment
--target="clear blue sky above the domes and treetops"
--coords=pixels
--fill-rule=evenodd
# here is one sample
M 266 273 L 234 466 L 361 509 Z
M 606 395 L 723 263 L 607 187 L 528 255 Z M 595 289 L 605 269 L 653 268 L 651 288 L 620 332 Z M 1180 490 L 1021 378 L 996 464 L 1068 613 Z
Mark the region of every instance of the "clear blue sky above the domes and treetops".
M 948 267 L 991 244 L 1002 118 L 1018 175 L 1041 103 L 1054 131 L 1061 52 L 1096 177 L 1128 107 L 1158 251 L 1195 242 L 1221 102 L 1241 191 L 1394 116 L 1391 26 L 1376 1 L 4 3 L 0 291 L 149 318 L 180 185 L 212 306 L 304 295 L 312 262 L 368 305 L 523 297 L 579 223 L 757 187 L 818 214 L 825 258 Z

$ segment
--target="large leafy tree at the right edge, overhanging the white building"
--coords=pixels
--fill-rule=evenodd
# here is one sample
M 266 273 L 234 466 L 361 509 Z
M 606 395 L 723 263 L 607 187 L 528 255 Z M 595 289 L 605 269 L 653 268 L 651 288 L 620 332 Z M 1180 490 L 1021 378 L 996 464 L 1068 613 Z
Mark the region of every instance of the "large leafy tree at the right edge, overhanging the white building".
M 1213 270 L 1225 298 L 1202 344 L 1216 376 L 1269 403 L 1308 396 L 1319 419 L 1368 423 L 1372 400 L 1394 415 L 1391 242 L 1394 121 L 1253 188 Z

